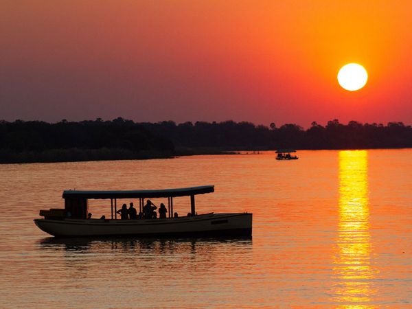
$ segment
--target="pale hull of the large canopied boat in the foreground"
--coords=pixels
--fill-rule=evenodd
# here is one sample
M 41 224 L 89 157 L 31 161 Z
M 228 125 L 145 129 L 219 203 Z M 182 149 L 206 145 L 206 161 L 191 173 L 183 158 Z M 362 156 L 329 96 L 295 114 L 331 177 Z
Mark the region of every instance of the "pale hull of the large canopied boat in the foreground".
M 53 236 L 251 236 L 252 214 L 203 214 L 148 220 L 34 219 Z

